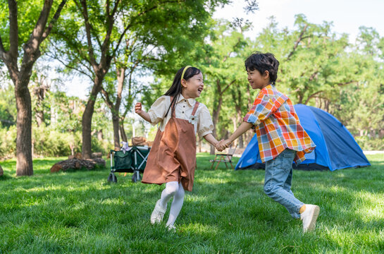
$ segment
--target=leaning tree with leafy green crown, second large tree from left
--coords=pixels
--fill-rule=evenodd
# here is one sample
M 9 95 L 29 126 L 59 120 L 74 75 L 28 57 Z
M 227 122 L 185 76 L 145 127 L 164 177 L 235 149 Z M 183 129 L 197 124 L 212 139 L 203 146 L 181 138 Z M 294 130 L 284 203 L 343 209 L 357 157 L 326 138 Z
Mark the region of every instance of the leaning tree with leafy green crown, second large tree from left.
M 190 35 L 201 30 L 209 19 L 209 13 L 219 3 L 215 1 L 181 0 L 74 0 L 75 6 L 68 12 L 68 19 L 57 30 L 56 56 L 68 68 L 87 75 L 92 80 L 92 90 L 82 116 L 82 153 L 91 156 L 91 126 L 94 101 L 103 89 L 103 80 L 111 68 L 112 60 L 127 35 L 142 42 L 159 46 L 157 56 L 175 50 L 173 35 L 179 32 L 183 48 L 190 47 Z M 208 7 L 208 8 L 206 8 Z M 83 25 L 82 25 L 83 24 Z M 144 35 L 146 35 L 144 37 Z M 184 37 L 182 36 L 184 35 Z M 156 43 L 163 40 L 164 44 Z M 63 58 L 63 56 L 65 56 Z M 161 59 L 157 57 L 158 59 Z M 133 61 L 135 63 L 135 61 Z M 163 64 L 166 66 L 166 63 Z M 162 66 L 159 66 L 161 69 Z M 104 95 L 105 96 L 105 95 Z M 113 109 L 115 110 L 115 109 Z

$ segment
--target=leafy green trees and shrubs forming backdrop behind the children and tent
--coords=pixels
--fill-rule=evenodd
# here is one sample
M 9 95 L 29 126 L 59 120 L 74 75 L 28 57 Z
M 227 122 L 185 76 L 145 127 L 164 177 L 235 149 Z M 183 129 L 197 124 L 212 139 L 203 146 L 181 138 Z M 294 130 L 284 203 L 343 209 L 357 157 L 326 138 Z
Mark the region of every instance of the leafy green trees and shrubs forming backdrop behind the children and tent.
M 264 11 L 257 1 L 160 1 L 153 6 L 145 1 L 118 1 L 116 9 L 109 2 L 111 9 L 98 1 L 86 2 L 89 6 L 68 1 L 61 2 L 63 10 L 47 39 L 37 40 L 41 44 L 35 50 L 41 56 L 34 58 L 25 53 L 25 45 L 31 42 L 42 9 L 38 2 L 18 2 L 16 42 L 10 32 L 16 28 L 7 18 L 7 5 L 2 4 L 0 157 L 16 155 L 18 175 L 32 174 L 32 157 L 82 152 L 87 158 L 92 152 L 107 155 L 132 136 L 153 140 L 156 126 L 137 119 L 133 105 L 142 101 L 148 109 L 170 87 L 178 68 L 187 64 L 204 73 L 199 101 L 211 111 L 213 134 L 218 139 L 228 137 L 256 96 L 243 67 L 254 51 L 273 52 L 280 60 L 278 88 L 292 102 L 333 114 L 363 150 L 384 149 L 384 39 L 374 27 L 361 25 L 351 30 L 350 37 L 335 32 L 333 20 L 311 23 L 297 13 L 291 24 L 279 24 L 273 16 L 264 18 L 266 25 L 261 28 L 251 21 Z M 58 4 L 47 15 L 48 28 L 61 7 Z M 275 8 L 281 13 L 287 2 L 275 4 L 265 6 L 266 12 Z M 356 3 L 352 4 L 355 8 Z M 225 20 L 228 8 L 237 11 Z M 218 18 L 212 18 L 212 13 Z M 17 53 L 12 61 L 6 57 L 11 53 Z M 25 59 L 30 63 L 24 64 Z M 242 135 L 235 145 L 246 146 L 252 135 L 251 131 Z M 198 142 L 203 151 L 204 141 Z

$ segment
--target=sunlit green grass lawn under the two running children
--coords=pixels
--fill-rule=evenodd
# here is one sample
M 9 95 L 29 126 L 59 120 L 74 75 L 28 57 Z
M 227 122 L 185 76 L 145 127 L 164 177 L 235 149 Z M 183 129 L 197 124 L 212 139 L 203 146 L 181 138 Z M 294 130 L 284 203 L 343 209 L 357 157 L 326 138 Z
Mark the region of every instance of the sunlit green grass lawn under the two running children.
M 50 174 L 65 158 L 35 159 L 34 176 L 16 178 L 16 162 L 0 162 L 0 253 L 384 253 L 384 155 L 294 171 L 296 197 L 321 207 L 309 234 L 263 193 L 264 171 L 209 170 L 210 158 L 198 155 L 175 232 L 149 222 L 163 186 L 107 183 L 109 167 Z

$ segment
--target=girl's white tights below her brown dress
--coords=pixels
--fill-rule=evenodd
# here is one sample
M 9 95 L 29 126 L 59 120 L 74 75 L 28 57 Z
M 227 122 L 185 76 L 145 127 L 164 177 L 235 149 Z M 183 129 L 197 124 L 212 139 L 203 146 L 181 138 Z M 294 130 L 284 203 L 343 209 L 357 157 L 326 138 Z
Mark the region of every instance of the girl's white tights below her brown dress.
M 178 218 L 179 212 L 182 207 L 182 202 L 184 202 L 184 194 L 185 191 L 184 188 L 182 188 L 181 183 L 178 183 L 177 181 L 171 181 L 169 183 L 166 183 L 166 188 L 161 193 L 161 207 L 166 207 L 168 201 L 173 197 L 171 211 L 169 212 L 169 218 L 166 226 L 173 226 L 175 220 Z

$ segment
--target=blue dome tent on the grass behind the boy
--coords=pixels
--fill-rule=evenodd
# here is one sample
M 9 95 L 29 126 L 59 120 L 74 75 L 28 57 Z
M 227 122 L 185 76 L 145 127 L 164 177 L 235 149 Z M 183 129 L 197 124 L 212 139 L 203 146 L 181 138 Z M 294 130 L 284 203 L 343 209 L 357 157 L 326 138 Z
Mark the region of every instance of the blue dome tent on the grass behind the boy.
M 316 107 L 303 104 L 297 104 L 294 107 L 304 130 L 316 144 L 315 150 L 306 154 L 306 159 L 297 168 L 334 171 L 348 167 L 371 165 L 351 133 L 335 116 Z M 245 148 L 235 167 L 235 169 L 244 168 L 264 168 L 260 159 L 256 135 Z

